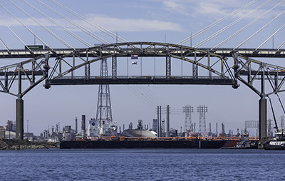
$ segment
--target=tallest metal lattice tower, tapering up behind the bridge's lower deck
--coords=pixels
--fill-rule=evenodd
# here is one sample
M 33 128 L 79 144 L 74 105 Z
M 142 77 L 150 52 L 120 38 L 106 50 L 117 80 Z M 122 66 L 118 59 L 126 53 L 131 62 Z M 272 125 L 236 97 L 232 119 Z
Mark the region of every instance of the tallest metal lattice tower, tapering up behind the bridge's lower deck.
M 101 61 L 100 77 L 108 77 L 108 65 L 106 58 L 103 58 Z M 108 84 L 99 85 L 96 120 L 98 121 L 100 126 L 113 122 L 110 100 L 110 88 Z

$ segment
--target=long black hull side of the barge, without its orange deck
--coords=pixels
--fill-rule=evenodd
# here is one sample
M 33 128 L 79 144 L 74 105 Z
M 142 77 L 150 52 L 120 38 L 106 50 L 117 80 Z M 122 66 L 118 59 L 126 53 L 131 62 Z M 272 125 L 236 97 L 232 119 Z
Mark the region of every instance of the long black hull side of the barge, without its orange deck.
M 225 143 L 226 140 L 80 140 L 63 141 L 60 148 L 222 148 Z

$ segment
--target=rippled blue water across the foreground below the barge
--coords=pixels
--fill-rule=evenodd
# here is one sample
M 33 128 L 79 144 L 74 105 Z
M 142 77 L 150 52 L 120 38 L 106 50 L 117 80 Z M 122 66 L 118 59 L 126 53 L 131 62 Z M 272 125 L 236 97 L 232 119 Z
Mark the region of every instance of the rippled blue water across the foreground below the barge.
M 1 150 L 0 180 L 285 180 L 285 151 Z

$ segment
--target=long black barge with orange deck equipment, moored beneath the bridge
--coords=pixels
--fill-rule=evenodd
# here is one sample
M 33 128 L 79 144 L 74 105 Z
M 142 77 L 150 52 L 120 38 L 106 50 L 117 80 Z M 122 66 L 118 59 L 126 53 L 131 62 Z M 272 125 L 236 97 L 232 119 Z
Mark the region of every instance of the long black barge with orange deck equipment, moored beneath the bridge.
M 234 147 L 239 138 L 125 138 L 62 141 L 61 149 L 80 148 L 223 148 Z

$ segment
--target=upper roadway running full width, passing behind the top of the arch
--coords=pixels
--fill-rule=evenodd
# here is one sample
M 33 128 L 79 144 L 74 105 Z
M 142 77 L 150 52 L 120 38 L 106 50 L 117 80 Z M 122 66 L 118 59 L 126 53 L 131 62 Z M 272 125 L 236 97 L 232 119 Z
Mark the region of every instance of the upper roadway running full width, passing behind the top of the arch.
M 199 49 L 199 51 L 209 51 L 211 53 L 215 53 L 217 55 L 220 56 L 224 56 L 224 57 L 232 57 L 232 51 L 233 48 L 217 48 L 214 50 L 211 50 L 210 48 L 197 48 L 197 50 Z M 0 58 L 34 58 L 37 56 L 42 56 L 46 53 L 51 53 L 51 57 L 60 57 L 60 56 L 66 56 L 66 55 L 70 55 L 73 56 L 73 53 L 76 51 L 80 51 L 80 53 L 77 53 L 77 56 L 81 56 L 81 57 L 86 57 L 86 51 L 82 51 L 84 50 L 83 48 L 75 48 L 75 49 L 71 49 L 71 48 L 58 48 L 58 49 L 53 49 L 53 51 L 51 51 L 51 49 L 33 49 L 33 51 L 28 51 L 25 49 L 19 49 L 19 50 L 0 50 Z M 121 50 L 123 51 L 127 51 L 127 48 L 121 48 Z M 135 48 L 128 48 L 128 51 L 131 52 L 135 52 L 134 51 Z M 89 57 L 98 57 L 98 56 L 105 56 L 105 55 L 110 55 L 110 53 L 114 53 L 114 48 L 110 47 L 110 48 L 104 48 L 103 51 L 100 50 L 100 46 L 98 46 L 97 48 L 90 48 L 90 51 L 92 51 L 92 53 L 88 53 Z M 147 51 L 152 51 L 154 52 L 155 49 L 154 48 L 148 48 Z M 181 51 L 177 51 L 177 48 L 170 48 L 169 51 L 173 51 L 173 55 L 180 55 Z M 270 57 L 270 58 L 285 58 L 285 49 L 281 49 L 279 51 L 277 51 L 277 49 L 259 49 L 258 51 L 256 51 L 254 48 L 239 48 L 234 50 L 235 52 L 237 52 L 239 55 L 245 56 L 245 57 L 261 57 L 261 58 L 266 58 L 266 57 Z M 128 54 L 125 55 L 120 55 L 122 56 L 129 56 Z M 145 55 L 143 53 L 140 53 L 140 56 L 160 56 L 159 53 L 155 54 L 155 53 L 146 53 Z M 191 53 L 187 53 L 188 57 L 192 57 L 195 56 L 194 51 Z M 197 53 L 196 56 L 204 56 L 204 53 Z

